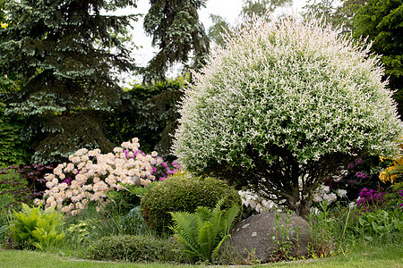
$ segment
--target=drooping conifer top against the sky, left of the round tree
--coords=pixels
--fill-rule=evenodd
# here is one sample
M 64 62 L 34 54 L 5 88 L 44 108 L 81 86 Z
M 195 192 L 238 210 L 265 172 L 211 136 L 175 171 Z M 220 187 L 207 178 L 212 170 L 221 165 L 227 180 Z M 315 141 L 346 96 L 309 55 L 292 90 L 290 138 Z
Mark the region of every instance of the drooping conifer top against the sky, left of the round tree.
M 143 27 L 152 37 L 159 53 L 141 70 L 144 81 L 165 80 L 168 67 L 183 63 L 185 68 L 199 69 L 209 51 L 209 38 L 197 11 L 206 0 L 150 0 L 150 10 Z M 190 54 L 193 63 L 189 66 Z

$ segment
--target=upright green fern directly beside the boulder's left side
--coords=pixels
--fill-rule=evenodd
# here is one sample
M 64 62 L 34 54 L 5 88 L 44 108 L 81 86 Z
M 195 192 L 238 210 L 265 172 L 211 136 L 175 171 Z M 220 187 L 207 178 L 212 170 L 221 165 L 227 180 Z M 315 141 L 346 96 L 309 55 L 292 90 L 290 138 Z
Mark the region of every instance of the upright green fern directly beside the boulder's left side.
M 171 227 L 185 252 L 197 260 L 213 263 L 222 243 L 229 238 L 240 206 L 221 211 L 225 199 L 219 200 L 214 209 L 199 206 L 194 213 L 171 212 L 174 225 Z

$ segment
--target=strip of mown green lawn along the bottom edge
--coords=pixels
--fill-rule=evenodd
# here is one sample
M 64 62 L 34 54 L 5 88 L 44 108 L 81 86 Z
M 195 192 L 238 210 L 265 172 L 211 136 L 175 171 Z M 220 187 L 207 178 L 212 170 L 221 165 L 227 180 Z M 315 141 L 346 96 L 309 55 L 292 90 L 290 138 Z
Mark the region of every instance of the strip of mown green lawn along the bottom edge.
M 403 245 L 359 245 L 346 255 L 326 259 L 302 260 L 288 263 L 261 264 L 254 267 L 401 267 L 403 268 Z M 133 264 L 99 262 L 74 259 L 56 254 L 27 250 L 0 250 L 0 267 L 206 267 L 204 265 Z M 226 266 L 223 266 L 226 267 Z

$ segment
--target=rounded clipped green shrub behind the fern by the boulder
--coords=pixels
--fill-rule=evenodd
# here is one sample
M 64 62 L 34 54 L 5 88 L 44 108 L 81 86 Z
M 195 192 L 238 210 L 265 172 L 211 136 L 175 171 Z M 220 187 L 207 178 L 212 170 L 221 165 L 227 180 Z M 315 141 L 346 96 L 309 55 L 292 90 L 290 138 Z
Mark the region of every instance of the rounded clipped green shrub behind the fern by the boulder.
M 169 231 L 172 225 L 169 212 L 193 213 L 198 206 L 214 208 L 223 197 L 226 200 L 222 210 L 229 209 L 234 203 L 242 204 L 236 189 L 225 181 L 192 177 L 189 173 L 178 172 L 150 188 L 142 197 L 141 214 L 151 229 Z

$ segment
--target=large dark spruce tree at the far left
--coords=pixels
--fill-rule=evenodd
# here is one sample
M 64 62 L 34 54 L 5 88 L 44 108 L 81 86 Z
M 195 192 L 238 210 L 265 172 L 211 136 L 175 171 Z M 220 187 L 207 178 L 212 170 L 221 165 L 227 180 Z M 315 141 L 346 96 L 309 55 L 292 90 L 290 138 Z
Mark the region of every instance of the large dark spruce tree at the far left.
M 135 1 L 7 1 L 0 75 L 18 73 L 27 82 L 6 113 L 28 117 L 23 137 L 32 141 L 34 163 L 62 161 L 80 147 L 114 147 L 101 115 L 122 103 L 112 74 L 133 67 L 119 33 L 135 16 L 107 12 L 129 5 Z

